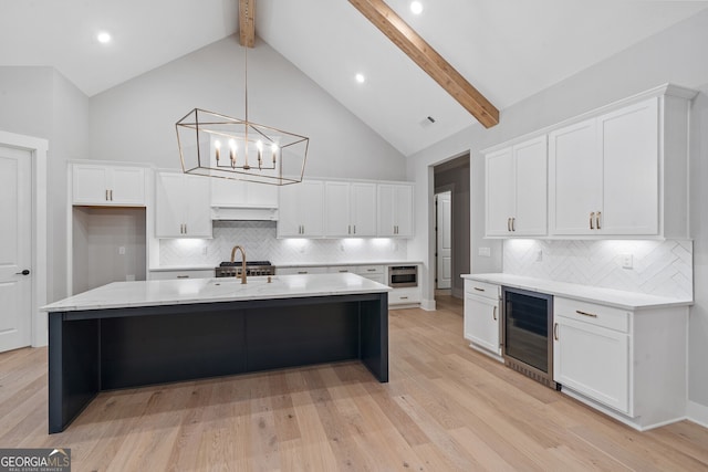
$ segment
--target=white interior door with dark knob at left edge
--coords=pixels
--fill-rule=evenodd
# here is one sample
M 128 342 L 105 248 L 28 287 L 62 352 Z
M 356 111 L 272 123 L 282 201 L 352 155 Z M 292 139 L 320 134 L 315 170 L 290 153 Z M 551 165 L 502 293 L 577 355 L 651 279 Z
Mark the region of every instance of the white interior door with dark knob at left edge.
M 31 159 L 0 146 L 0 352 L 31 343 Z

